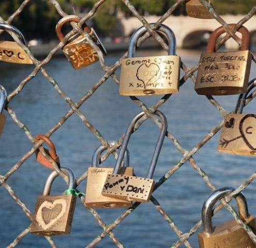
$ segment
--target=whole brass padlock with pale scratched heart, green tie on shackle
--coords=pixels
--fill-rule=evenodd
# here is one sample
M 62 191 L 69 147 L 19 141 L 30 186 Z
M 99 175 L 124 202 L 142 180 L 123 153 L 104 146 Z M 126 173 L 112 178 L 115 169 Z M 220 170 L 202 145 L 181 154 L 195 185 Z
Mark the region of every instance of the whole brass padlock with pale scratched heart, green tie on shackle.
M 62 167 L 68 176 L 68 190 L 62 195 L 49 195 L 52 182 L 58 176 L 56 170 L 50 174 L 44 185 L 43 194 L 37 198 L 31 232 L 36 235 L 69 234 L 76 207 L 76 177 L 70 168 Z

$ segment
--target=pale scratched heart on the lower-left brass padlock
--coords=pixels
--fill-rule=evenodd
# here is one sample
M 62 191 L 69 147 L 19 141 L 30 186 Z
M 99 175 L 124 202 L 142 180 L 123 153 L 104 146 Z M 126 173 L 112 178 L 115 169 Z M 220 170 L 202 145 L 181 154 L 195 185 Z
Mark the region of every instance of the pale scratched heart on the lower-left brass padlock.
M 57 205 L 61 205 L 61 211 L 58 211 L 57 214 L 55 212 L 54 213 L 56 215 L 55 218 L 53 218 L 53 219 L 51 218 L 51 220 L 48 223 L 46 223 L 44 220 L 44 216 L 43 216 L 43 214 L 45 214 L 45 212 L 43 212 L 42 209 L 46 208 L 46 209 L 52 210 Z M 43 201 L 43 203 L 40 205 L 40 207 L 37 210 L 36 221 L 42 229 L 47 230 L 52 225 L 54 225 L 59 219 L 62 218 L 62 216 L 64 215 L 66 210 L 67 210 L 67 202 L 65 199 L 56 199 L 52 203 L 48 200 L 45 200 L 45 201 Z M 51 214 L 51 211 L 49 211 L 48 214 L 49 213 Z

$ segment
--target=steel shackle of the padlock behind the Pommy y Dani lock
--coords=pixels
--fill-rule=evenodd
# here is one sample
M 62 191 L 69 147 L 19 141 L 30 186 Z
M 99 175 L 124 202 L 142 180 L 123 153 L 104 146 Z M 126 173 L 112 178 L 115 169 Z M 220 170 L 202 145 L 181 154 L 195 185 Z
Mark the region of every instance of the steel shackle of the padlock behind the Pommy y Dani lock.
M 117 143 L 116 141 L 109 141 L 110 146 L 114 146 L 116 143 Z M 100 145 L 100 146 L 97 147 L 97 149 L 93 153 L 92 167 L 99 167 L 101 154 L 105 150 L 107 150 L 107 147 L 105 147 L 103 145 Z M 131 166 L 130 151 L 127 148 L 125 150 L 125 163 L 124 163 L 124 167 L 130 167 L 130 166 Z

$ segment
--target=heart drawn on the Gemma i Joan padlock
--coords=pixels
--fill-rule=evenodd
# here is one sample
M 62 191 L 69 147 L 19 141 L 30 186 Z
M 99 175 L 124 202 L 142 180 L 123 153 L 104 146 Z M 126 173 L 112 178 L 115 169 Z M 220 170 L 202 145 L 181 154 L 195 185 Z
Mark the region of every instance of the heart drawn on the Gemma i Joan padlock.
M 159 79 L 159 71 L 160 67 L 157 64 L 151 63 L 147 66 L 147 64 L 143 63 L 138 67 L 136 76 L 143 83 L 144 89 L 146 89 L 149 83 L 154 84 Z

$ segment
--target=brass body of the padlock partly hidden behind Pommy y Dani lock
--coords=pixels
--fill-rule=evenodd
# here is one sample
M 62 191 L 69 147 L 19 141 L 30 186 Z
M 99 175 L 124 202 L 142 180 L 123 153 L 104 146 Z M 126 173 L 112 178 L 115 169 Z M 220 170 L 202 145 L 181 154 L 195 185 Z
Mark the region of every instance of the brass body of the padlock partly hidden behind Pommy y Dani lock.
M 116 199 L 109 196 L 103 196 L 101 191 L 104 182 L 113 172 L 111 167 L 89 167 L 86 183 L 85 205 L 92 208 L 129 208 L 132 206 L 131 201 Z M 132 167 L 122 167 L 119 173 L 124 175 L 133 175 Z

